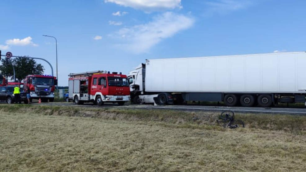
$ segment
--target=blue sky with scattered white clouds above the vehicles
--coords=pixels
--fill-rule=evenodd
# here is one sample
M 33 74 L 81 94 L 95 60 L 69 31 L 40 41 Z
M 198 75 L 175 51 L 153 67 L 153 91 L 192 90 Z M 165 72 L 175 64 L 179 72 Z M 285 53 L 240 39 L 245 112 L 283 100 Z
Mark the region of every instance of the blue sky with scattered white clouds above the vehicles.
M 306 51 L 305 0 L 1 0 L 0 50 L 68 74 L 146 59 Z M 41 60 L 45 74 L 49 65 Z

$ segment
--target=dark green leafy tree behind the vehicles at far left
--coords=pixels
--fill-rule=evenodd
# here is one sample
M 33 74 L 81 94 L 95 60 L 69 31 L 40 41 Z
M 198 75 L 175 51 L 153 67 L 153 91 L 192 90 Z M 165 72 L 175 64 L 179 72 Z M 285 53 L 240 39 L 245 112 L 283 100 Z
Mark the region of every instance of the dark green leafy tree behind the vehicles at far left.
M 10 77 L 11 79 L 14 78 L 14 72 L 12 64 L 15 67 L 15 75 L 16 80 L 21 81 L 27 75 L 41 75 L 45 70 L 43 65 L 37 64 L 34 59 L 30 59 L 29 56 L 24 56 L 27 58 L 17 57 L 13 60 L 4 58 L 1 60 L 2 65 L 0 65 L 1 74 L 5 77 Z

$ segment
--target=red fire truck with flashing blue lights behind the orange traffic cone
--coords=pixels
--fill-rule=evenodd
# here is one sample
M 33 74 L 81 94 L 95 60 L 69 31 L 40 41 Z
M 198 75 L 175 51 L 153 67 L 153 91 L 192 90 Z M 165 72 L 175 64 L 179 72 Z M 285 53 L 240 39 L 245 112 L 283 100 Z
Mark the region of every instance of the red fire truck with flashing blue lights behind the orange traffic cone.
M 24 90 L 30 90 L 30 100 L 41 99 L 42 102 L 54 101 L 56 77 L 51 75 L 28 75 L 24 79 Z

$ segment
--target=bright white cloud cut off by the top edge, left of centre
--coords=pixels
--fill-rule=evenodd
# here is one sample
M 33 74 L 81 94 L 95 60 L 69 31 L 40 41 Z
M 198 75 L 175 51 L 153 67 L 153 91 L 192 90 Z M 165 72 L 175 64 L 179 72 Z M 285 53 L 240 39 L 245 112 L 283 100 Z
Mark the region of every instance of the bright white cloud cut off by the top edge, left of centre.
M 181 0 L 104 0 L 124 7 L 141 9 L 146 12 L 159 11 L 161 9 L 182 8 Z

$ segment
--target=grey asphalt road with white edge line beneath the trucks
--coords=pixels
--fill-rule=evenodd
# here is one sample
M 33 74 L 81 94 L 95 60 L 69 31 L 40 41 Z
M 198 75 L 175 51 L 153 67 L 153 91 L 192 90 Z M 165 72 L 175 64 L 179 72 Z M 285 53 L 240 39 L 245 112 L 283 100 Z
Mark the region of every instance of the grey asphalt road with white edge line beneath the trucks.
M 86 108 L 100 108 L 92 103 L 75 105 L 74 103 L 61 103 L 61 102 L 51 102 L 51 103 L 33 103 L 34 105 L 47 105 L 47 106 L 72 106 L 72 107 L 86 107 Z M 234 112 L 243 113 L 271 113 L 271 114 L 292 114 L 292 115 L 306 115 L 305 108 L 260 108 L 260 107 L 224 107 L 224 106 L 203 106 L 203 105 L 166 105 L 166 106 L 153 106 L 150 104 L 140 104 L 140 105 L 124 105 L 118 106 L 117 104 L 104 104 L 101 106 L 108 108 L 131 108 L 131 109 L 165 109 L 165 110 L 181 110 L 181 111 L 224 111 L 232 110 Z

